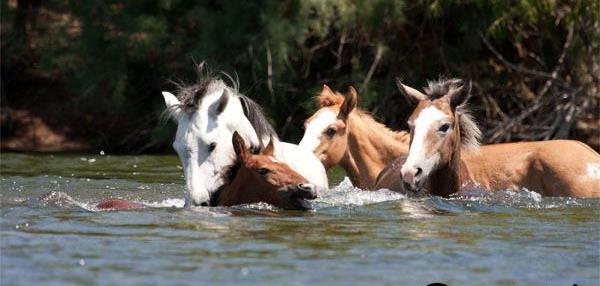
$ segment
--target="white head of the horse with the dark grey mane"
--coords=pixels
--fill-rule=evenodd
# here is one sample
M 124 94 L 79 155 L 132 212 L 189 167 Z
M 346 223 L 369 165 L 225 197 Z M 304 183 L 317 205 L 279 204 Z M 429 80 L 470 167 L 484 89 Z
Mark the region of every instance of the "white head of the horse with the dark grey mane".
M 235 84 L 230 87 L 221 79 L 206 75 L 202 65 L 198 71 L 198 82 L 180 86 L 177 97 L 163 92 L 167 112 L 177 123 L 173 148 L 183 165 L 186 206 L 208 205 L 211 196 L 225 183 L 223 170 L 235 162 L 229 140 L 235 131 L 259 149 L 264 145 L 265 134 L 272 131 L 268 129 L 270 125 L 267 128 L 262 124 L 262 137 L 257 134 L 248 118 L 253 115 L 248 110 L 256 109 L 256 104 L 240 95 Z M 264 117 L 258 118 L 267 122 Z

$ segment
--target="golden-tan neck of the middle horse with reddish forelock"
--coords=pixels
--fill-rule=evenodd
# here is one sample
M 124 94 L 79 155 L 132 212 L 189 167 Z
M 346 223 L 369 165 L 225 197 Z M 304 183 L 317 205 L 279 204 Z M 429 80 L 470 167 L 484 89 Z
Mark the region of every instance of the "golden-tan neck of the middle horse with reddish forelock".
M 375 187 L 381 170 L 408 153 L 408 132 L 394 132 L 367 114 L 353 112 L 346 123 L 348 142 L 340 165 L 360 188 Z

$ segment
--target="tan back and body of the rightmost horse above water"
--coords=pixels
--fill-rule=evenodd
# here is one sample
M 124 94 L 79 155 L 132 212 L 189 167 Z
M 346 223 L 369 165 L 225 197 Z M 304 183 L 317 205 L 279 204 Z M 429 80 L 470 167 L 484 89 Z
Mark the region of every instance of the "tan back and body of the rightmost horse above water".
M 470 179 L 488 189 L 524 187 L 544 196 L 600 196 L 600 155 L 579 141 L 485 145 L 462 157 Z

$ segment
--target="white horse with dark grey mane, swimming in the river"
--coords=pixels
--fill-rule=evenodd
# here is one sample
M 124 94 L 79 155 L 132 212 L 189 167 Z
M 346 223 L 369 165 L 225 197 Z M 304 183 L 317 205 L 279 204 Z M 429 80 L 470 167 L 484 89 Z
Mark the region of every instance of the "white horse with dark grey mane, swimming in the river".
M 168 113 L 177 122 L 173 148 L 183 165 L 185 206 L 209 205 L 211 196 L 226 183 L 235 163 L 231 138 L 237 131 L 249 147 L 262 150 L 273 138 L 275 158 L 287 163 L 318 191 L 328 186 L 327 173 L 317 157 L 298 145 L 281 142 L 260 106 L 198 67 L 198 82 L 181 86 L 178 96 L 164 91 Z

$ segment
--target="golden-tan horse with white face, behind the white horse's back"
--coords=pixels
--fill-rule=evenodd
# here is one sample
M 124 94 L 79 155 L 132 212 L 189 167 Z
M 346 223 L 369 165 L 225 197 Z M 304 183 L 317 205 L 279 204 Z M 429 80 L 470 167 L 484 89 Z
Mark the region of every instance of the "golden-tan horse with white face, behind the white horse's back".
M 374 189 L 383 167 L 408 153 L 408 132 L 394 132 L 356 108 L 353 87 L 344 97 L 323 85 L 317 101 L 319 110 L 304 123 L 299 145 L 314 152 L 326 169 L 339 164 L 355 186 Z

